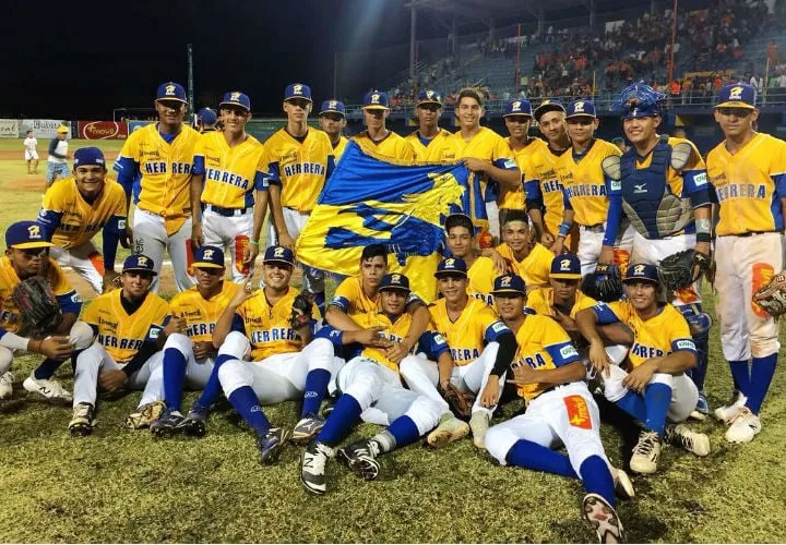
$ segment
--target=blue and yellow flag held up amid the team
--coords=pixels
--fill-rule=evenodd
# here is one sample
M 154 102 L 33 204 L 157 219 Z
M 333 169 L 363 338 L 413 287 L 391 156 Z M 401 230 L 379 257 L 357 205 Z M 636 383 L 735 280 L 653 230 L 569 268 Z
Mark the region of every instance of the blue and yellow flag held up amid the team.
M 350 142 L 298 237 L 297 258 L 356 276 L 362 249 L 384 244 L 390 270 L 407 275 L 413 291 L 432 301 L 442 225 L 450 214 L 469 209 L 468 178 L 461 162 L 395 165 Z

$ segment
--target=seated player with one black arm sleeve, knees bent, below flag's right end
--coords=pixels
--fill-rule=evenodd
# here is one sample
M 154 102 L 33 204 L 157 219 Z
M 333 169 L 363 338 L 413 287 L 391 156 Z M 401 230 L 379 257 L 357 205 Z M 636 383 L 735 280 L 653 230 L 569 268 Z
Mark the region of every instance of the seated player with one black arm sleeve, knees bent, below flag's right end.
M 434 272 L 444 299 L 429 305 L 431 324 L 445 339 L 453 366 L 437 366 L 422 360 L 403 361 L 401 373 L 409 388 L 439 402 L 440 424 L 429 434 L 429 444 L 440 446 L 466 435 L 455 425 L 448 403 L 437 390 L 450 382 L 463 391 L 477 393 L 469 428 L 473 443 L 484 448 L 491 414 L 497 408 L 508 366 L 515 353 L 515 338 L 497 313 L 480 300 L 467 295 L 467 269 L 463 259 L 442 259 Z

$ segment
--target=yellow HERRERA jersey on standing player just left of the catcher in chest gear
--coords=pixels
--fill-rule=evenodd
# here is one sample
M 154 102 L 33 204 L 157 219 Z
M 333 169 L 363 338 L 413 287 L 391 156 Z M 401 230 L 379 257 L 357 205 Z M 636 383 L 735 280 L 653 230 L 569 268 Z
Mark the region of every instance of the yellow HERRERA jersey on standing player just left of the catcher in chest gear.
M 621 152 L 610 142 L 595 140 L 581 157 L 569 150 L 557 162 L 564 206 L 575 213 L 574 221 L 580 226 L 606 221 L 610 180 L 600 164 L 609 155 L 621 155 Z

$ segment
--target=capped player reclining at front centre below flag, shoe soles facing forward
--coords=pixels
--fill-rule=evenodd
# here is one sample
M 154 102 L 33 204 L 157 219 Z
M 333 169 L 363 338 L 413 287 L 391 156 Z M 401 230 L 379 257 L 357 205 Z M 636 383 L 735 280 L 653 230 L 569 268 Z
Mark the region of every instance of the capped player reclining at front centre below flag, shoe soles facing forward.
M 380 472 L 379 455 L 417 441 L 440 419 L 442 405 L 428 396 L 405 389 L 398 374 L 400 364 L 388 358 L 384 350 L 385 344 L 401 342 L 412 327 L 412 317 L 406 312 L 409 279 L 398 274 L 385 275 L 379 292 L 380 308 L 355 316 L 364 329 L 341 331 L 326 327 L 319 332 L 337 350 L 345 344 L 362 346 L 359 355 L 338 372 L 336 383 L 342 395 L 324 427 L 301 456 L 300 482 L 311 494 L 326 492 L 325 463 L 359 420 L 386 427 L 371 438 L 340 449 L 338 460 L 366 481 L 372 481 Z M 385 344 L 381 344 L 380 338 Z M 429 353 L 438 358 L 440 366 L 450 367 L 448 344 L 439 335 L 428 331 L 421 340 L 429 344 Z M 408 354 L 401 364 L 410 360 L 430 363 Z

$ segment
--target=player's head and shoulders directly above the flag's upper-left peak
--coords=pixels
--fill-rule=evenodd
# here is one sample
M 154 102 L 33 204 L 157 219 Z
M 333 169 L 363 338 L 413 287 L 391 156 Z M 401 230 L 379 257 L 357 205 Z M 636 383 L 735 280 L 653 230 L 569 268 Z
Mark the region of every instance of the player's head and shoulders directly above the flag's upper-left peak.
M 366 93 L 362 112 L 366 130 L 353 136 L 352 141 L 364 152 L 404 164 L 415 159 L 415 150 L 409 143 L 385 126 L 390 116 L 390 101 L 385 93 L 381 90 Z

